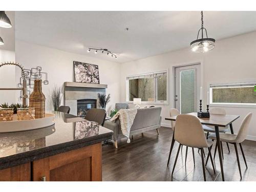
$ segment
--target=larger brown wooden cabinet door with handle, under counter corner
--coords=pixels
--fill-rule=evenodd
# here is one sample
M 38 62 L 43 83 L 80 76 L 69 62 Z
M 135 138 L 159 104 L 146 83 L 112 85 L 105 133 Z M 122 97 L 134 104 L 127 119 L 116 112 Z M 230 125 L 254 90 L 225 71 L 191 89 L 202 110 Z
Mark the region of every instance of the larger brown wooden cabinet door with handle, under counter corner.
M 101 143 L 32 162 L 34 181 L 101 181 Z

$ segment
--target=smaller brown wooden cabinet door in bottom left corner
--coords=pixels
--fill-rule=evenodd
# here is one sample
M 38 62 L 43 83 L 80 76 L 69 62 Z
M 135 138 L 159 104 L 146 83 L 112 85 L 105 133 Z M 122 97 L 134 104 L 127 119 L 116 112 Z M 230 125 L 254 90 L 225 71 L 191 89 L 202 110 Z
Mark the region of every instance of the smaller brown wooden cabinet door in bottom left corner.
M 30 163 L 0 170 L 0 181 L 30 181 Z

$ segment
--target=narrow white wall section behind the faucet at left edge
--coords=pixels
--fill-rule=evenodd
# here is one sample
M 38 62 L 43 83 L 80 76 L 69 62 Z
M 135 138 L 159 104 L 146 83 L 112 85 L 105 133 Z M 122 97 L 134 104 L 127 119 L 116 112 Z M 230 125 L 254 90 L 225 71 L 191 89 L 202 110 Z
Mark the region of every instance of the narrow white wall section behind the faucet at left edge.
M 0 49 L 0 63 L 15 61 L 14 51 Z M 3 66 L 0 68 L 0 88 L 16 88 L 15 66 Z M 0 91 L 0 104 L 4 102 L 13 103 L 18 91 Z

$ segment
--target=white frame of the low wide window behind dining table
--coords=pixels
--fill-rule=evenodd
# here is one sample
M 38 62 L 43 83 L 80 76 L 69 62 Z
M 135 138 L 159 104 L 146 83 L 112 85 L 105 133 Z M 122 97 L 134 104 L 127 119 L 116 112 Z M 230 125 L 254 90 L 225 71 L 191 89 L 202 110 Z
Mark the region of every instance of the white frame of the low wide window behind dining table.
M 224 107 L 234 107 L 234 108 L 256 108 L 256 103 L 220 103 L 212 102 L 212 88 L 214 87 L 223 87 L 223 88 L 239 88 L 239 87 L 252 87 L 256 84 L 255 81 L 245 81 L 245 82 L 233 82 L 233 83 L 210 83 L 209 84 L 209 100 L 210 106 L 224 106 Z

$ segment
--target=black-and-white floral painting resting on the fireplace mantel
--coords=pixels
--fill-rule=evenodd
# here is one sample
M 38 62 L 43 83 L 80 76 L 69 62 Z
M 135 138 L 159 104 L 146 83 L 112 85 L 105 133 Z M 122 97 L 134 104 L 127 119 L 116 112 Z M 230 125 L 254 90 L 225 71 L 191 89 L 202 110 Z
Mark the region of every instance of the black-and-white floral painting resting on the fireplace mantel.
M 99 84 L 99 68 L 85 62 L 74 61 L 75 82 Z

